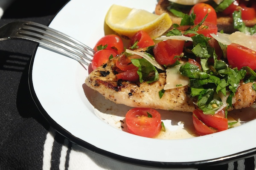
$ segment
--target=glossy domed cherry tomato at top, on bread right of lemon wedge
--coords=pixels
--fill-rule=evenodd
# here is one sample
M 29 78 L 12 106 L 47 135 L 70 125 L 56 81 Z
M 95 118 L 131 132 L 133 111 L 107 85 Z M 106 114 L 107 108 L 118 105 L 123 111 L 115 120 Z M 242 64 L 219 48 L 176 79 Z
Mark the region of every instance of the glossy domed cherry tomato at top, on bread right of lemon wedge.
M 197 3 L 192 8 L 189 14 L 194 11 L 195 17 L 195 25 L 200 23 L 204 17 L 208 14 L 207 18 L 205 19 L 206 22 L 213 23 L 217 25 L 217 14 L 216 11 L 212 6 L 207 3 Z

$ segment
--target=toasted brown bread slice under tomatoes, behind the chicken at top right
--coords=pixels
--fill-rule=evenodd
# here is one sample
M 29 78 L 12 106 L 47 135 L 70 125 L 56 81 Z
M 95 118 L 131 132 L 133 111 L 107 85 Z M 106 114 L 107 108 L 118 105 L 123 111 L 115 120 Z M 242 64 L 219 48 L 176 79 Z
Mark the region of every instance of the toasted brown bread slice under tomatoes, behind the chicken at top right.
M 159 0 L 155 8 L 155 14 L 160 15 L 163 13 L 168 13 L 172 19 L 172 22 L 180 25 L 181 18 L 173 15 L 167 9 L 168 6 L 169 6 L 168 0 Z M 183 11 L 183 13 L 188 14 L 189 11 L 190 10 Z M 252 27 L 256 24 L 256 18 L 254 20 L 244 20 L 244 23 L 246 26 Z M 229 16 L 222 16 L 220 13 L 217 13 L 217 27 L 218 27 L 218 31 L 223 30 L 225 33 L 232 33 L 236 31 L 236 29 L 234 29 L 234 26 L 233 26 L 233 18 Z

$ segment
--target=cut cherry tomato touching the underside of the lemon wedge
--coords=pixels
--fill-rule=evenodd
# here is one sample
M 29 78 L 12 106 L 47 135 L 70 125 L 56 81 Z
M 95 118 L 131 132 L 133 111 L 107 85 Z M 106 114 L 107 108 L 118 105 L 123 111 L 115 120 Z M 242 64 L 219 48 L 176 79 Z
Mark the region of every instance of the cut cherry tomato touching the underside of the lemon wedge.
M 134 36 L 131 38 L 129 48 L 131 50 L 135 50 L 138 48 L 144 48 L 154 45 L 154 41 L 145 31 L 138 31 Z

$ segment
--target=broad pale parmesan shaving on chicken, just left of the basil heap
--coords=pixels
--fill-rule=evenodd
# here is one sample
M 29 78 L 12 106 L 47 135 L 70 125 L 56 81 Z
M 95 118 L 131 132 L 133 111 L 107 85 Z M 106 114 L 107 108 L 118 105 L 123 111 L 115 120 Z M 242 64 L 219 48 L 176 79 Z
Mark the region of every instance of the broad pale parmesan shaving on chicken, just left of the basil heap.
M 181 65 L 183 64 L 166 69 L 166 85 L 163 90 L 179 88 L 189 84 L 189 78 L 180 74 Z

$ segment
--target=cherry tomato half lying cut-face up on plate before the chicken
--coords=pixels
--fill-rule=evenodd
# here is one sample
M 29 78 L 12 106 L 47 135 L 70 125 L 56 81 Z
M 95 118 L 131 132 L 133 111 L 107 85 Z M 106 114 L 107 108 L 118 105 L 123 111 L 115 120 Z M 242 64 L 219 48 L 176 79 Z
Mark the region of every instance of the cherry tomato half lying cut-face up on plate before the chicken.
M 151 115 L 148 116 L 148 113 Z M 155 109 L 133 108 L 126 113 L 128 132 L 154 138 L 161 130 L 161 115 Z

